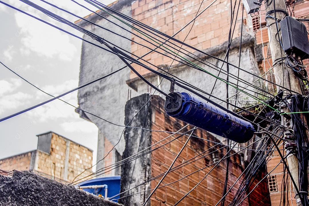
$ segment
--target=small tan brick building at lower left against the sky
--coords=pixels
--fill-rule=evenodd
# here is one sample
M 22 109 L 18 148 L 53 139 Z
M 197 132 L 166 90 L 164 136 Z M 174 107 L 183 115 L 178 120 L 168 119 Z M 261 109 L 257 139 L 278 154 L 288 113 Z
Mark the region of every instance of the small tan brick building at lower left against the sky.
M 44 177 L 71 183 L 92 166 L 92 150 L 54 132 L 37 135 L 36 150 L 0 160 L 2 170 L 30 170 Z M 81 177 L 91 174 L 84 172 Z

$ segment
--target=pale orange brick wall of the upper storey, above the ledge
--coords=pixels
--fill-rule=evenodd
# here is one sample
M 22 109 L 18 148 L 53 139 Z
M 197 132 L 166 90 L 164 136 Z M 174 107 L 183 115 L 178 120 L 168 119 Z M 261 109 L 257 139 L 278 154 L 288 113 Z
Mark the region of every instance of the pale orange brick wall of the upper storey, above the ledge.
M 212 1 L 213 0 L 204 1 L 200 11 L 202 11 Z M 201 2 L 202 0 L 137 0 L 132 3 L 132 17 L 171 36 L 195 17 Z M 234 5 L 235 1 L 233 0 L 232 2 Z M 189 33 L 189 36 L 186 38 L 185 43 L 198 49 L 206 49 L 227 41 L 231 20 L 230 10 L 230 1 L 218 0 L 215 2 L 212 6 L 210 6 L 209 9 L 203 12 L 203 14 L 195 20 L 194 26 Z M 239 9 L 238 17 L 241 17 L 241 11 L 242 10 Z M 236 38 L 240 35 L 240 22 L 241 19 L 236 24 L 233 38 Z M 190 28 L 191 25 L 177 34 L 175 38 L 184 41 Z M 134 30 L 133 32 L 138 34 Z M 139 34 L 139 36 L 142 35 Z M 154 37 L 154 35 L 150 36 L 152 38 Z M 150 48 L 154 48 L 154 46 L 150 43 L 147 43 L 134 35 L 132 35 L 132 39 L 146 46 L 149 46 Z M 191 52 L 193 51 L 187 47 L 183 48 Z M 158 51 L 159 50 L 160 49 L 158 49 Z M 148 51 L 149 50 L 147 48 L 135 43 L 131 46 L 131 52 L 138 56 L 141 56 Z M 144 57 L 144 59 L 156 66 L 170 65 L 172 62 L 171 58 L 164 57 L 163 55 L 155 52 L 147 55 Z M 177 62 L 175 61 L 173 64 L 176 63 Z M 138 65 L 134 65 L 134 68 L 142 75 L 149 73 L 146 69 L 143 69 Z M 134 73 L 131 73 L 130 78 L 135 77 L 137 76 Z

